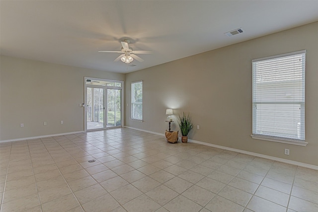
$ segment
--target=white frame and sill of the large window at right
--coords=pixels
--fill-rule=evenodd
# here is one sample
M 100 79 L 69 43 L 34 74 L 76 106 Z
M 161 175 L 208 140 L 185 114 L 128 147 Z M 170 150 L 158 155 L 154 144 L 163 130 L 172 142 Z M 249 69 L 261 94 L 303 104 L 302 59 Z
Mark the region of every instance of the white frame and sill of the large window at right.
M 301 123 L 303 123 L 303 126 L 304 126 L 304 130 L 303 130 L 303 133 L 304 133 L 303 138 L 304 138 L 304 140 L 290 139 L 290 138 L 284 138 L 284 137 L 279 137 L 279 136 L 267 136 L 267 135 L 261 135 L 261 134 L 258 134 L 257 132 L 254 132 L 254 131 L 256 131 L 256 118 L 257 118 L 256 117 L 256 107 L 255 107 L 255 105 L 257 104 L 257 101 L 255 100 L 256 97 L 255 97 L 255 88 L 254 88 L 254 83 L 256 84 L 256 82 L 255 82 L 255 80 L 256 80 L 255 71 L 256 70 L 254 69 L 254 63 L 260 62 L 260 61 L 271 60 L 271 59 L 277 59 L 277 58 L 293 56 L 293 55 L 300 55 L 300 54 L 305 54 L 305 61 L 303 62 L 303 66 L 304 67 L 303 67 L 303 70 L 302 70 L 302 79 L 301 79 L 301 80 L 304 81 L 304 89 L 302 89 L 302 92 L 304 93 L 303 94 L 304 101 L 300 102 L 300 104 L 303 106 L 303 107 L 301 107 L 301 109 L 303 110 L 303 111 L 301 111 L 301 114 L 302 113 L 304 114 L 303 116 L 302 115 L 300 116 L 301 117 Z M 274 141 L 274 142 L 282 142 L 282 143 L 302 145 L 302 146 L 306 146 L 308 144 L 308 142 L 305 141 L 305 86 L 306 86 L 306 83 L 305 83 L 306 67 L 305 66 L 306 66 L 306 50 L 252 60 L 252 135 L 251 135 L 251 137 L 253 139 L 265 140 L 265 141 Z M 296 104 L 296 102 L 297 101 L 294 101 L 293 104 Z

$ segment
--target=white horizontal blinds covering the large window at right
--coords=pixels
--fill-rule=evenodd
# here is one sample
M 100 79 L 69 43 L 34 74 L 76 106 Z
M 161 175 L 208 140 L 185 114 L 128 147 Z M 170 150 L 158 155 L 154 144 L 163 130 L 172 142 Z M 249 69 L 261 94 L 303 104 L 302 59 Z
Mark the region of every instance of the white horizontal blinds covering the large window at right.
M 305 141 L 306 51 L 252 61 L 253 135 Z

